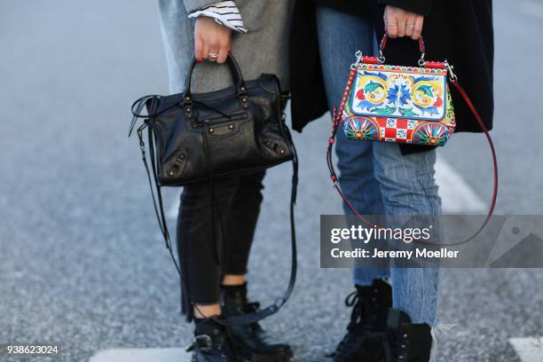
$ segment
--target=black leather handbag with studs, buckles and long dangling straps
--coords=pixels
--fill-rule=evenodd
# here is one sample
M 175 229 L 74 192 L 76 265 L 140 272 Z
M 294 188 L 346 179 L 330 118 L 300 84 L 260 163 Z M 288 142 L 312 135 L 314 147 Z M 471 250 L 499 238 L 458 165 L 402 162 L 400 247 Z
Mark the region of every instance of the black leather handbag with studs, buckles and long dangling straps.
M 261 75 L 256 80 L 245 82 L 232 55 L 228 57 L 227 65 L 232 74 L 232 87 L 193 94 L 191 80 L 196 66 L 196 59 L 193 59 L 184 93 L 139 98 L 131 108 L 133 118 L 129 137 L 138 118 L 144 118 L 138 128 L 139 146 L 158 223 L 181 280 L 183 273 L 171 247 L 161 186 L 209 182 L 209 195 L 213 199 L 213 180 L 217 177 L 254 172 L 292 161 L 290 224 L 293 256 L 290 281 L 284 295 L 269 307 L 228 319 L 230 324 L 247 324 L 279 311 L 295 285 L 294 205 L 298 167 L 295 146 L 283 113 L 287 97 L 280 91 L 277 76 Z M 142 114 L 144 107 L 146 114 Z M 146 161 L 143 136 L 146 128 L 151 170 Z

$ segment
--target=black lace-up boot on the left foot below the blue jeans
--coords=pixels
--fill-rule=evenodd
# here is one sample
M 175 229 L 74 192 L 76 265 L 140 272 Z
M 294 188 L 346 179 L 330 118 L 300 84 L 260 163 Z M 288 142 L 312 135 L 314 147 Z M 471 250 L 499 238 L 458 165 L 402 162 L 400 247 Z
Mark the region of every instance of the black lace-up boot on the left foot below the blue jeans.
M 374 279 L 370 287 L 356 287 L 345 299 L 345 305 L 352 307 L 347 334 L 328 356 L 334 362 L 374 362 L 382 348 L 392 288 L 381 279 Z

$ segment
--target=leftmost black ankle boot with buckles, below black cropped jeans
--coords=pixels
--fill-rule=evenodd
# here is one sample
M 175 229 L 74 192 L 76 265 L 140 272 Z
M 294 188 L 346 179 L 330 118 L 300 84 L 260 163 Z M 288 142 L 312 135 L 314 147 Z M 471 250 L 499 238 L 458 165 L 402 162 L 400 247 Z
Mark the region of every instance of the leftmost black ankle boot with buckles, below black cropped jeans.
M 186 348 L 192 362 L 237 362 L 226 328 L 212 319 L 195 319 L 194 341 Z

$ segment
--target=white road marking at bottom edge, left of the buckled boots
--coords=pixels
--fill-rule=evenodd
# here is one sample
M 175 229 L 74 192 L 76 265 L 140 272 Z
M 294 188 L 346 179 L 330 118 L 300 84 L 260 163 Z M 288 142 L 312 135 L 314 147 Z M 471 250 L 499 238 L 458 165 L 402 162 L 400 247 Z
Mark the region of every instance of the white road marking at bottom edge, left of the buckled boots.
M 188 362 L 191 353 L 181 348 L 100 350 L 89 362 Z

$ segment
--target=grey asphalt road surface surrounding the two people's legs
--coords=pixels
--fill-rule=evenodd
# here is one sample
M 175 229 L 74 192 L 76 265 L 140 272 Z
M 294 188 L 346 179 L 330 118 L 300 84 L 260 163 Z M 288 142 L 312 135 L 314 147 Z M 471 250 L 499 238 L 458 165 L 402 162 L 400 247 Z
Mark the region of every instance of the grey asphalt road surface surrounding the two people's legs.
M 497 214 L 543 210 L 542 30 L 542 2 L 495 2 Z M 0 345 L 59 345 L 59 356 L 33 361 L 179 348 L 192 334 L 178 314 L 177 276 L 153 219 L 138 145 L 126 138 L 131 101 L 168 93 L 160 36 L 155 2 L 0 4 Z M 264 322 L 288 338 L 299 361 L 325 360 L 333 350 L 352 288 L 350 271 L 319 269 L 319 215 L 341 213 L 327 178 L 327 122 L 295 135 L 298 287 L 284 311 Z M 454 137 L 440 160 L 447 165 L 440 179 L 463 183 L 442 188 L 445 207 L 466 187 L 472 201 L 489 200 L 482 136 Z M 281 166 L 266 177 L 249 279 L 251 296 L 263 302 L 287 283 L 288 254 L 280 250 L 289 241 L 289 172 Z M 168 208 L 177 193 L 166 194 Z M 461 204 L 466 210 L 470 201 Z M 543 360 L 535 340 L 543 335 L 541 271 L 447 270 L 441 285 L 439 317 L 456 326 L 439 335 L 437 360 Z M 24 358 L 0 355 L 10 360 Z

